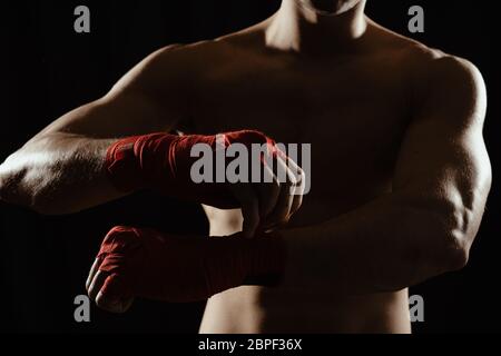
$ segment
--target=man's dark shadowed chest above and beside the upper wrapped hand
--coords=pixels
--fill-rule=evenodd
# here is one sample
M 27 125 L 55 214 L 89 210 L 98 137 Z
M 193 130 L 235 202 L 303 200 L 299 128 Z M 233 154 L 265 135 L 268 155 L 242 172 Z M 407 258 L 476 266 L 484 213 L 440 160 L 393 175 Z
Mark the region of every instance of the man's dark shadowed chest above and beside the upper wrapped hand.
M 405 95 L 403 80 L 381 66 L 224 68 L 202 78 L 193 115 L 199 132 L 249 128 L 311 144 L 321 195 L 354 182 L 371 190 L 391 172 L 407 121 Z M 336 184 L 322 172 L 335 172 Z

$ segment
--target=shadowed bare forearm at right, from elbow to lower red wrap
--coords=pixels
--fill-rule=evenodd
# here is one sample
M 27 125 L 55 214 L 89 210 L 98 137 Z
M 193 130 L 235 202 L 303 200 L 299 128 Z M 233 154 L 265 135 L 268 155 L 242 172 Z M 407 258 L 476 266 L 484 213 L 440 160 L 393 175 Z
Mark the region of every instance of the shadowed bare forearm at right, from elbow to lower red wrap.
M 284 233 L 288 267 L 284 285 L 345 294 L 400 290 L 462 268 L 468 238 L 449 202 L 409 205 L 389 195 L 315 227 Z M 451 218 L 449 218 L 451 217 Z M 463 246 L 458 246 L 461 241 Z

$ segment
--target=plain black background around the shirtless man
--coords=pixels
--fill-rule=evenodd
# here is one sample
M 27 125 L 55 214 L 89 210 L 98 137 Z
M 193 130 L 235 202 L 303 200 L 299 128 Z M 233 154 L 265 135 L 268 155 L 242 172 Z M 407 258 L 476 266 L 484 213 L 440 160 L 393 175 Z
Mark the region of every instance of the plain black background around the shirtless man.
M 91 10 L 90 34 L 73 31 L 73 9 L 79 4 Z M 106 93 L 121 75 L 155 49 L 245 28 L 265 19 L 278 4 L 278 0 L 2 3 L 0 160 L 60 115 Z M 425 10 L 423 34 L 407 31 L 407 9 L 412 4 L 421 4 Z M 501 332 L 497 303 L 501 243 L 495 7 L 491 2 L 454 0 L 369 0 L 367 14 L 402 34 L 470 59 L 485 77 L 490 95 L 485 137 L 494 167 L 494 187 L 484 224 L 463 271 L 428 281 L 413 288 L 412 294 L 420 294 L 425 300 L 425 323 L 414 325 L 418 333 Z M 145 211 L 145 204 L 158 209 Z M 128 224 L 203 234 L 207 221 L 198 207 L 141 194 L 68 217 L 42 217 L 0 202 L 0 330 L 197 330 L 202 304 L 139 301 L 125 316 L 92 308 L 92 323 L 77 324 L 72 303 L 75 296 L 85 294 L 88 268 L 109 228 Z

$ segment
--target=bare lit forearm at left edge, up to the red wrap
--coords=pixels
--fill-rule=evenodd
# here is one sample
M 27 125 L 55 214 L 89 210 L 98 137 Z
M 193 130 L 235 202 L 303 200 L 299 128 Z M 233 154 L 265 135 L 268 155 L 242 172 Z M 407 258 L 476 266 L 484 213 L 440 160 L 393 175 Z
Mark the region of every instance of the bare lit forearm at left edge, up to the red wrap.
M 2 200 L 62 215 L 118 198 L 102 169 L 111 142 L 62 132 L 31 140 L 0 166 Z

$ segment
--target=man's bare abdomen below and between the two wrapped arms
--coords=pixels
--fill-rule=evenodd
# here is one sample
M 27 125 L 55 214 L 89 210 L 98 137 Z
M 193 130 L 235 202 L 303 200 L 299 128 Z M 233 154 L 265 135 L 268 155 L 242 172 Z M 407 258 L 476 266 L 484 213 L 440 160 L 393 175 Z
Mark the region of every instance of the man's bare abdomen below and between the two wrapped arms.
M 210 222 L 210 236 L 242 230 L 240 210 L 204 209 Z M 238 287 L 208 300 L 200 333 L 407 334 L 411 333 L 409 291 L 342 296 L 325 290 Z

